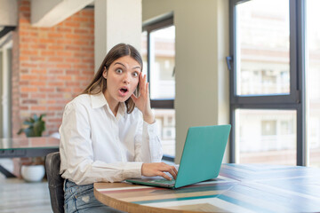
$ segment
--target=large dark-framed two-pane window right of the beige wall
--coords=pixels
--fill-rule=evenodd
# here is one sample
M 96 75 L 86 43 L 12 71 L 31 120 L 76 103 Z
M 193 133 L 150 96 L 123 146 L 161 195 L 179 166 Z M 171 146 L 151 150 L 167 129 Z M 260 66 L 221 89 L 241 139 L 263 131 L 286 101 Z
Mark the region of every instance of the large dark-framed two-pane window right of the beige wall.
M 306 165 L 302 2 L 230 0 L 230 162 Z

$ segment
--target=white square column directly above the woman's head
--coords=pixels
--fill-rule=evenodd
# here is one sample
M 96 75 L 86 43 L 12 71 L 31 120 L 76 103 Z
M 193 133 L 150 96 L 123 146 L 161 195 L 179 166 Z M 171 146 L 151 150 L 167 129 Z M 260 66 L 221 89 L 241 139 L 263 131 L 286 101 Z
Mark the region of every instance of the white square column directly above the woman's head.
M 95 0 L 94 70 L 117 43 L 141 46 L 141 0 Z

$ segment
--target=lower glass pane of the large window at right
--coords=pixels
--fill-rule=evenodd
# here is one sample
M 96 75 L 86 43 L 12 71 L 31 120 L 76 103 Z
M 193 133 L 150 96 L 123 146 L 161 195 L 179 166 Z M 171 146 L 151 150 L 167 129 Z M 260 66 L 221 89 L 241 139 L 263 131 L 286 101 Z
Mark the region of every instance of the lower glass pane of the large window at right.
M 236 109 L 241 163 L 296 165 L 296 111 Z

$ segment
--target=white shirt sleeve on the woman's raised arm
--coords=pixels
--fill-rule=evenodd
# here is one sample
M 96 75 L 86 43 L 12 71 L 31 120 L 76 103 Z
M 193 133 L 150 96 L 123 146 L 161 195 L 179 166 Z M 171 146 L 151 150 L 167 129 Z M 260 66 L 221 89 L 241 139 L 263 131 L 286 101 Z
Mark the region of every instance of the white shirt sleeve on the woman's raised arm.
M 139 111 L 140 113 L 140 111 Z M 163 157 L 157 123 L 144 122 L 140 113 L 138 130 L 135 137 L 135 162 L 161 162 Z

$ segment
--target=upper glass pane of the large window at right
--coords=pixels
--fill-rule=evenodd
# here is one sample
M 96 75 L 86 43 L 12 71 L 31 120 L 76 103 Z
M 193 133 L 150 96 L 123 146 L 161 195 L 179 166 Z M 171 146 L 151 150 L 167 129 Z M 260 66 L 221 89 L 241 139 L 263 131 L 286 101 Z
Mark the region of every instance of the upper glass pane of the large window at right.
M 236 95 L 290 93 L 289 0 L 236 5 Z

